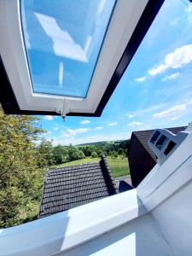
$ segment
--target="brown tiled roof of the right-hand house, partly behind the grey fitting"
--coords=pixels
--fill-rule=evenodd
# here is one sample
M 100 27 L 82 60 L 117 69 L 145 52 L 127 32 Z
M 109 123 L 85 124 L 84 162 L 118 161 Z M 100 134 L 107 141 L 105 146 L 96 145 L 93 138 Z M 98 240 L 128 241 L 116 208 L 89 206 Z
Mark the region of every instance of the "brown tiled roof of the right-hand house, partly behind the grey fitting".
M 187 126 L 180 126 L 180 127 L 172 127 L 172 128 L 166 128 L 168 131 L 172 131 L 172 133 L 177 134 L 179 131 L 184 131 L 187 128 Z M 151 155 L 151 157 L 156 161 L 156 156 L 154 152 L 148 147 L 148 139 L 151 137 L 154 130 L 147 130 L 147 131 L 133 131 L 132 134 L 137 137 L 137 140 L 143 145 L 143 148 L 145 148 L 148 151 L 148 154 Z

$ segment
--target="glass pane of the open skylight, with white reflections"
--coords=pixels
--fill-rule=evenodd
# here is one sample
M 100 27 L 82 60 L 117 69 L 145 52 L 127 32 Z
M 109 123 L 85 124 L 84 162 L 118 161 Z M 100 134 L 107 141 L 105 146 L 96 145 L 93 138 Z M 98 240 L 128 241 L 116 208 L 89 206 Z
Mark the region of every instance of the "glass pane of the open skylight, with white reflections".
M 21 0 L 34 92 L 85 97 L 115 0 Z

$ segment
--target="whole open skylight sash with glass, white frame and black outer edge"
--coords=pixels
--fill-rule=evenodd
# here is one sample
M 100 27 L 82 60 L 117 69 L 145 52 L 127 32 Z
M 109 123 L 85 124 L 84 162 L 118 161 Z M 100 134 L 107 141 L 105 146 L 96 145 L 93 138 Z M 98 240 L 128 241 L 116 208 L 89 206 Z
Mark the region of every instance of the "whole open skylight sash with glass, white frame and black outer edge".
M 0 1 L 5 113 L 101 116 L 160 1 Z

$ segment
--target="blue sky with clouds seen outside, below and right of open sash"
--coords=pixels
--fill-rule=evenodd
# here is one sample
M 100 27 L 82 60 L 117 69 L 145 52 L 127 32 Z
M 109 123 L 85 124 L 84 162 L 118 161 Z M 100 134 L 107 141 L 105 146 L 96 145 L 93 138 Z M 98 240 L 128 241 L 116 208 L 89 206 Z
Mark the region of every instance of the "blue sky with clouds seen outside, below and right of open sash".
M 127 139 L 192 120 L 192 4 L 167 0 L 100 118 L 42 116 L 56 145 Z

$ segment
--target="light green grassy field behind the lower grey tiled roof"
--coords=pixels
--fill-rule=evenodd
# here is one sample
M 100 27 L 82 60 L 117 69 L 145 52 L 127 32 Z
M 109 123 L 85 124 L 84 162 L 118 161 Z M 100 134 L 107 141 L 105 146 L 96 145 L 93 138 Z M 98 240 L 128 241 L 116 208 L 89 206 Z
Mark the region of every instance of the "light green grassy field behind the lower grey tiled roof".
M 94 163 L 99 160 L 100 160 L 99 158 L 84 158 L 82 160 L 75 160 L 75 161 L 67 162 L 67 163 L 59 165 L 59 166 L 52 166 L 52 167 L 60 168 L 62 166 L 77 166 L 77 165 L 82 165 L 82 164 L 86 164 L 86 163 Z M 107 160 L 108 160 L 108 165 L 110 166 L 111 172 L 113 173 L 113 177 L 120 177 L 120 176 L 125 176 L 125 175 L 130 174 L 130 169 L 129 169 L 127 158 L 107 157 Z

